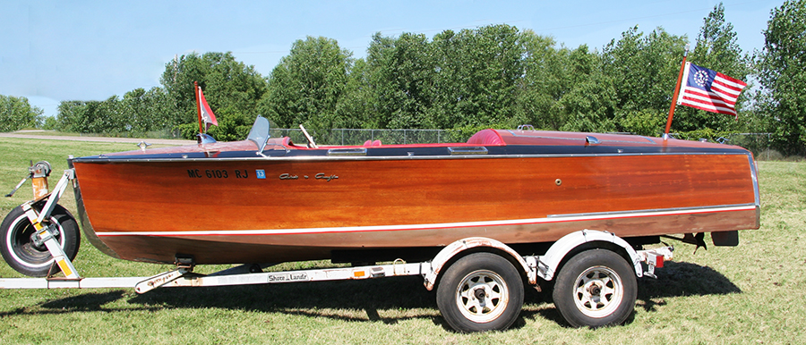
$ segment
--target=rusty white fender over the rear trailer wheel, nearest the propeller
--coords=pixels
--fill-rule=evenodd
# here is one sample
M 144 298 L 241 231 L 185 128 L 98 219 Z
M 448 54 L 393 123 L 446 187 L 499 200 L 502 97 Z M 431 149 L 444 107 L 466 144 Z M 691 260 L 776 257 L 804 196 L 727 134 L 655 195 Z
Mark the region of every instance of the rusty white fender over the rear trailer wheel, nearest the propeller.
M 626 240 L 622 240 L 622 238 L 616 236 L 613 232 L 586 229 L 571 232 L 568 235 L 563 236 L 562 239 L 554 242 L 552 247 L 549 248 L 545 255 L 538 258 L 537 276 L 546 281 L 551 281 L 554 277 L 554 273 L 557 272 L 557 268 L 562 262 L 562 259 L 566 257 L 571 250 L 593 241 L 613 243 L 623 248 L 624 251 L 627 252 L 627 255 L 630 256 L 630 260 L 632 260 L 632 265 L 635 268 L 635 274 L 638 277 L 643 275 L 641 258 L 636 253 L 635 249 L 630 246 L 630 243 L 627 243 Z

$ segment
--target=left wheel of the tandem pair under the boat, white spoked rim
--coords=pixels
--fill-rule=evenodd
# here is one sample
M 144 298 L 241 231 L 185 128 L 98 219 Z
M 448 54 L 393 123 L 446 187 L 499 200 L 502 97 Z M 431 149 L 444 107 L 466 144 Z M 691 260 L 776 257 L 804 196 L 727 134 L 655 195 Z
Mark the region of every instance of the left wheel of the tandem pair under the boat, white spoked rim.
M 523 307 L 523 281 L 507 259 L 476 253 L 460 258 L 442 275 L 437 306 L 459 332 L 503 331 Z

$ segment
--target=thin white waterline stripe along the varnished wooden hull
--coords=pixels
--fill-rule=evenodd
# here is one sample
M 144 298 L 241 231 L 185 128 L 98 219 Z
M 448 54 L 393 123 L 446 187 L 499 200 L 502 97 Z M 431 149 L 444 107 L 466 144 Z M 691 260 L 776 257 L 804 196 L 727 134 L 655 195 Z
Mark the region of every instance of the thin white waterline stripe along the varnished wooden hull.
M 364 231 L 412 231 L 437 230 L 451 228 L 478 228 L 485 226 L 529 225 L 542 223 L 585 222 L 604 219 L 626 219 L 639 217 L 657 217 L 666 215 L 695 215 L 717 212 L 752 211 L 755 205 L 719 206 L 696 209 L 674 209 L 658 211 L 639 211 L 606 213 L 591 215 L 551 215 L 544 218 L 513 219 L 502 221 L 461 222 L 461 223 L 433 223 L 433 224 L 406 224 L 406 225 L 371 225 L 371 226 L 345 226 L 333 228 L 301 228 L 301 229 L 270 229 L 270 230 L 217 230 L 217 231 L 109 231 L 96 232 L 99 237 L 107 236 L 255 236 L 255 235 L 302 235 L 334 232 L 364 232 Z

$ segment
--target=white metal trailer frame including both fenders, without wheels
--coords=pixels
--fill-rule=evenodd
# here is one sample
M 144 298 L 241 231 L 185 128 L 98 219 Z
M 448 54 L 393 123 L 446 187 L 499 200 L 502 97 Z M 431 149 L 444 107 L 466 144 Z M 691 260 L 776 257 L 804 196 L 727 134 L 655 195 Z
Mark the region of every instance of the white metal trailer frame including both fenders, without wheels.
M 54 240 L 53 235 L 44 228 L 47 240 Z M 71 276 L 49 278 L 0 278 L 0 289 L 101 289 L 101 288 L 133 288 L 137 293 L 145 293 L 160 287 L 202 287 L 271 284 L 280 282 L 325 282 L 343 280 L 363 280 L 382 277 L 421 275 L 427 290 L 433 290 L 443 266 L 455 257 L 461 256 L 467 249 L 490 248 L 503 251 L 507 258 L 520 264 L 520 269 L 531 285 L 536 285 L 537 277 L 545 281 L 552 280 L 562 259 L 574 248 L 592 241 L 607 241 L 619 244 L 632 259 L 635 273 L 655 277 L 655 268 L 664 261 L 673 258 L 673 248 L 661 247 L 648 250 L 634 250 L 626 241 L 611 232 L 583 230 L 571 232 L 555 242 L 544 256 L 521 257 L 500 241 L 482 237 L 457 240 L 442 248 L 433 260 L 420 263 L 406 263 L 396 260 L 390 265 L 365 265 L 356 267 L 334 267 L 307 269 L 296 271 L 251 273 L 252 265 L 239 265 L 227 270 L 210 274 L 193 273 L 190 267 L 180 267 L 173 271 L 159 273 L 151 277 L 81 277 L 74 269 L 72 262 L 64 255 L 64 251 L 56 243 L 47 246 L 54 257 L 59 257 L 73 267 Z M 642 263 L 647 265 L 643 270 Z M 660 265 L 659 265 L 660 263 Z

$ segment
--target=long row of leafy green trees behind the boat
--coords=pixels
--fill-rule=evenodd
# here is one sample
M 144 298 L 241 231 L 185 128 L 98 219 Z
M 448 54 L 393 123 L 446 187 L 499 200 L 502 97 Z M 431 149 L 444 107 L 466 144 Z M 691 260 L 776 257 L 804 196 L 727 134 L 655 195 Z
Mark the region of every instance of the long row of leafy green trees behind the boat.
M 739 98 L 738 121 L 677 107 L 673 132 L 694 139 L 771 132 L 776 149 L 806 154 L 806 0 L 774 9 L 763 33 L 764 48 L 749 54 L 736 43 L 722 4 L 704 18 L 688 60 L 758 84 Z M 268 77 L 231 53 L 183 55 L 166 63 L 161 87 L 104 101 L 63 101 L 48 125 L 105 133 L 171 128 L 192 138 L 198 81 L 219 119 L 210 129 L 219 140 L 243 139 L 259 114 L 281 128 L 302 123 L 311 130 L 469 134 L 528 123 L 542 130 L 656 136 L 664 130 L 688 42 L 663 28 L 644 33 L 633 27 L 601 50 L 571 48 L 528 29 L 491 25 L 433 38 L 375 34 L 366 57 L 356 59 L 334 39 L 308 37 L 294 42 Z

